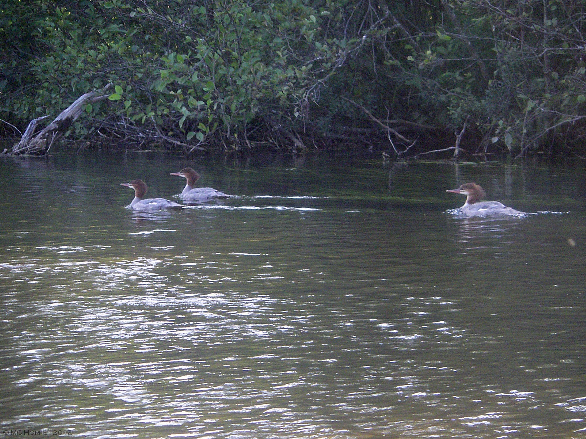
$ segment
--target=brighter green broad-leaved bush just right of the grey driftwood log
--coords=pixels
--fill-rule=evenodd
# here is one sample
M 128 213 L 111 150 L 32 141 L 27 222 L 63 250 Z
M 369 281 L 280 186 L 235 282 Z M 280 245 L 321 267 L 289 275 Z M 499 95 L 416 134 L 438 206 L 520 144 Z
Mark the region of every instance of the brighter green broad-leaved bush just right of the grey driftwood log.
M 292 123 L 289 110 L 301 106 L 316 83 L 312 72 L 328 70 L 335 55 L 315 43 L 318 12 L 296 0 L 213 6 L 192 7 L 185 26 L 196 32 L 183 35 L 157 68 L 145 72 L 141 88 L 148 88 L 149 100 L 136 100 L 142 111 L 129 115 L 141 122 L 154 117 L 158 124 L 165 115 L 187 140 L 219 134 L 231 145 L 259 118 Z M 152 11 L 137 13 L 156 22 Z

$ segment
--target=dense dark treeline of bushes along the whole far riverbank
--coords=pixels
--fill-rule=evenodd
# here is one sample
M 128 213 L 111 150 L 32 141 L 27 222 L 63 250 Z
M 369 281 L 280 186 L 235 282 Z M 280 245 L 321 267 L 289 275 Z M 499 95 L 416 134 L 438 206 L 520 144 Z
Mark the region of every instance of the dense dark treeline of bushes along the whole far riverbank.
M 586 0 L 4 0 L 0 136 L 582 155 Z M 48 119 L 49 121 L 52 119 Z M 79 142 L 78 145 L 80 144 Z

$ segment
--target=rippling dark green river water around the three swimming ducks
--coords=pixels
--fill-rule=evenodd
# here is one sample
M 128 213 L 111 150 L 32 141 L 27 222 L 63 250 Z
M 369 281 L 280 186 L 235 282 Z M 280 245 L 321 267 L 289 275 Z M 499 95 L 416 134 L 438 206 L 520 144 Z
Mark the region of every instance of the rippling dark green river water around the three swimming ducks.
M 184 166 L 235 197 L 124 209 Z M 2 434 L 585 437 L 585 169 L 0 160 Z M 454 218 L 468 181 L 539 213 Z

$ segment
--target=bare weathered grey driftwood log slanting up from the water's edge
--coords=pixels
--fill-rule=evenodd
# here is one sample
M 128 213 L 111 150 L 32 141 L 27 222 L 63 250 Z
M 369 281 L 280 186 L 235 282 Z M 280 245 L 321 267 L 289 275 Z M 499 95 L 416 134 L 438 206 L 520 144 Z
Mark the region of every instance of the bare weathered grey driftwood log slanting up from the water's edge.
M 53 143 L 57 139 L 61 138 L 67 129 L 76 121 L 76 119 L 86 109 L 87 104 L 93 104 L 94 102 L 101 101 L 107 98 L 110 93 L 106 91 L 111 87 L 112 84 L 106 85 L 100 90 L 90 91 L 86 94 L 81 95 L 73 104 L 67 109 L 63 110 L 59 116 L 53 119 L 49 125 L 39 131 L 36 135 L 35 128 L 39 121 L 49 116 L 42 116 L 40 118 L 33 119 L 30 121 L 29 126 L 26 128 L 25 133 L 22 135 L 20 142 L 16 143 L 12 147 L 11 155 L 45 155 L 53 146 Z M 34 135 L 34 136 L 33 136 Z

